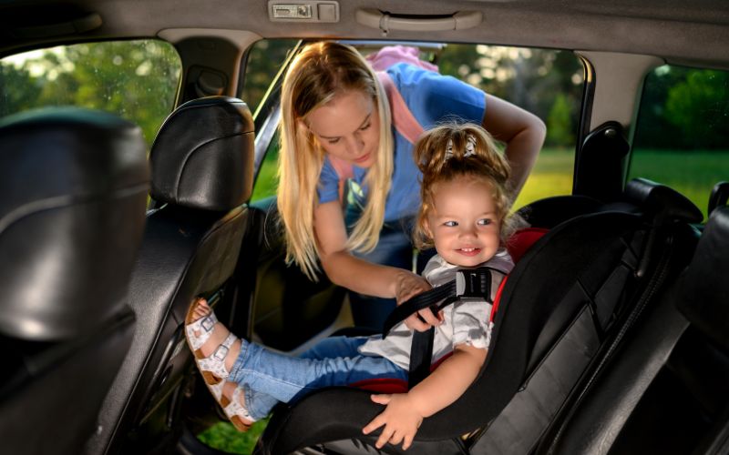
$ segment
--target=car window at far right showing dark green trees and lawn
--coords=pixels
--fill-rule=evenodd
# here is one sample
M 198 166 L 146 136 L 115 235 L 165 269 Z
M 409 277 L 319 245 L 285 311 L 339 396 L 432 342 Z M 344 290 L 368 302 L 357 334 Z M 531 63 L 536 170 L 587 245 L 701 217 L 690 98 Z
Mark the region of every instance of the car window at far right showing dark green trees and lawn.
M 682 193 L 706 216 L 714 184 L 729 180 L 729 72 L 659 66 L 645 78 L 628 178 Z

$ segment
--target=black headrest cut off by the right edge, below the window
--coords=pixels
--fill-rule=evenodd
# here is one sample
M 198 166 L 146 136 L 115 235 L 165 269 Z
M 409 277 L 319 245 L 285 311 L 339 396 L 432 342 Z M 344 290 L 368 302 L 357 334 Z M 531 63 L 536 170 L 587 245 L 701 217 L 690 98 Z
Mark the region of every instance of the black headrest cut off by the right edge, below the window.
M 729 351 L 729 207 L 712 212 L 691 264 L 679 281 L 678 308 Z

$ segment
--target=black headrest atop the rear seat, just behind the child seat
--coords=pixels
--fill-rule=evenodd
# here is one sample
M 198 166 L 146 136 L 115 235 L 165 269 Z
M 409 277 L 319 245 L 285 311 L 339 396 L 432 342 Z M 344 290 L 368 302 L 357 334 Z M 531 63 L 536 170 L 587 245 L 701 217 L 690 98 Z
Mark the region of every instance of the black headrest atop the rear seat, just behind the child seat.
M 680 220 L 701 223 L 703 213 L 681 193 L 646 178 L 634 178 L 625 187 L 629 202 L 642 207 L 653 217 L 661 220 Z

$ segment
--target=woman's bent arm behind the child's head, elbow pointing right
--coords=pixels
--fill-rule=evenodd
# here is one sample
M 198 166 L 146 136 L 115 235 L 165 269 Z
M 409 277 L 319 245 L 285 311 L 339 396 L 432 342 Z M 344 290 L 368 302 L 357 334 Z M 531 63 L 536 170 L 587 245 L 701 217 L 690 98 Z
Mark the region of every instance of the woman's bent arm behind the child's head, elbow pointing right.
M 547 127 L 538 116 L 488 94 L 483 127 L 507 145 L 505 153 L 511 165 L 510 184 L 516 199 L 537 161 Z

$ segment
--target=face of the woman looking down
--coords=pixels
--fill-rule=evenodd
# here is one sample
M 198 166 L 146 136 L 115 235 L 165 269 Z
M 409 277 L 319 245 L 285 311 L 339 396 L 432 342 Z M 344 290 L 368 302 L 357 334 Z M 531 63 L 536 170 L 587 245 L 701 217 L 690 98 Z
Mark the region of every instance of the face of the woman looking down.
M 324 151 L 358 167 L 371 167 L 380 146 L 380 116 L 371 96 L 349 90 L 307 116 Z

